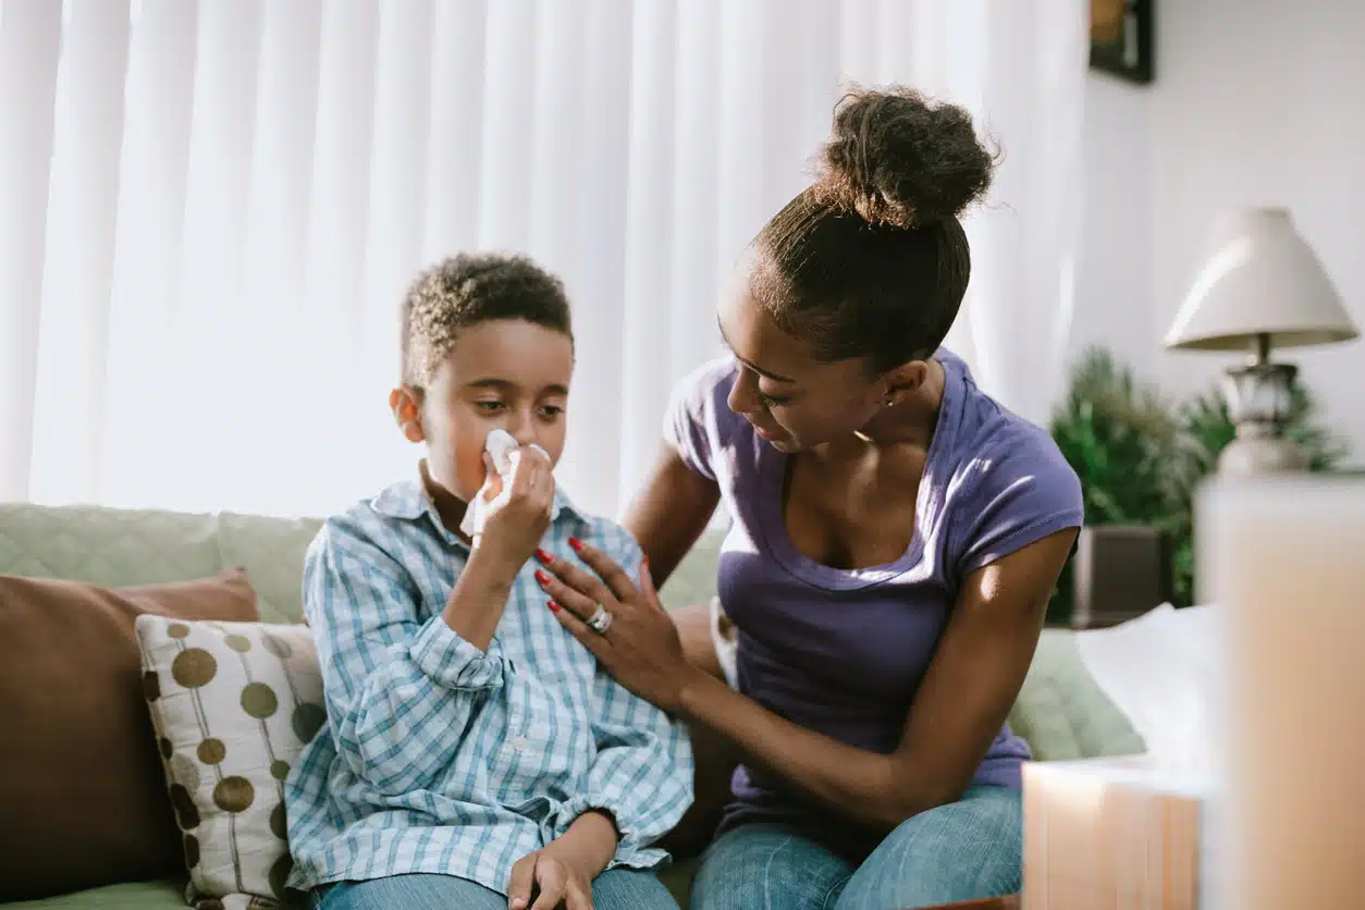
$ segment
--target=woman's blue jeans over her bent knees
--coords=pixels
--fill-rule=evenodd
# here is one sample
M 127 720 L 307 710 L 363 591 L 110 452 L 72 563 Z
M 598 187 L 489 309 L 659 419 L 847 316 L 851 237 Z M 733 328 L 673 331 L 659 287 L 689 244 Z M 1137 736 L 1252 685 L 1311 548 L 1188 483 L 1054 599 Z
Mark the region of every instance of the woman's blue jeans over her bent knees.
M 702 861 L 691 910 L 908 910 L 1020 890 L 1024 808 L 1017 790 L 972 787 L 902 821 L 863 861 L 792 828 L 749 824 Z

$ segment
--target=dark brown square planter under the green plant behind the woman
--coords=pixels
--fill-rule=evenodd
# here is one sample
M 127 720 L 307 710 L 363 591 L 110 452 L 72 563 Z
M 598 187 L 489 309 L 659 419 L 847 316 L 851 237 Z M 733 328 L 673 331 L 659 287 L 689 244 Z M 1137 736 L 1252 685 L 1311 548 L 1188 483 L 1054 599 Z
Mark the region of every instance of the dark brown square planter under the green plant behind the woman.
M 1117 625 L 1171 599 L 1170 539 L 1156 528 L 1082 528 L 1073 568 L 1073 629 Z

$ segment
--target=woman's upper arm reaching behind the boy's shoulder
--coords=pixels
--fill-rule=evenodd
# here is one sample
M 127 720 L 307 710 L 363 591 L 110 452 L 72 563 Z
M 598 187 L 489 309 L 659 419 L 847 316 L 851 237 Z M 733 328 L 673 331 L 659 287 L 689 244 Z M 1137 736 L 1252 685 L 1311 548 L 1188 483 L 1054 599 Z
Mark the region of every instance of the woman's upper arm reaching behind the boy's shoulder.
M 650 555 L 650 572 L 663 584 L 682 562 L 721 501 L 721 487 L 682 461 L 665 442 L 644 488 L 625 512 L 625 529 Z

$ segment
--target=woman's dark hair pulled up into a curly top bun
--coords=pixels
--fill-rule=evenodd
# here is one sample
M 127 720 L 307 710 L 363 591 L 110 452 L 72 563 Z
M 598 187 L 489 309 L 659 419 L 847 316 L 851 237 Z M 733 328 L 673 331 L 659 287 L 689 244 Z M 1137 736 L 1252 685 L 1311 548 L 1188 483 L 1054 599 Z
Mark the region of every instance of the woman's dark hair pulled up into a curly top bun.
M 849 90 L 819 179 L 755 240 L 755 299 L 822 360 L 883 371 L 930 356 L 972 273 L 958 217 L 994 166 L 962 108 L 900 86 Z

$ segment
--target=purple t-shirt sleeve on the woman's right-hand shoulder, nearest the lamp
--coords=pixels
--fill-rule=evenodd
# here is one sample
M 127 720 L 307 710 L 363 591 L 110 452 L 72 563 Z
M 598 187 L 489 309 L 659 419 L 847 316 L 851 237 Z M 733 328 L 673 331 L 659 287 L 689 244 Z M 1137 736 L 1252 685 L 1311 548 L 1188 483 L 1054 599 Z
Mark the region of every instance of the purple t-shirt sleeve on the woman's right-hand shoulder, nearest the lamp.
M 960 578 L 1085 520 L 1081 482 L 1050 438 L 1029 432 L 995 452 L 973 465 L 961 513 Z

